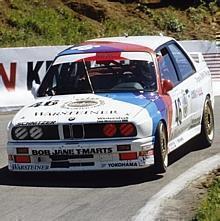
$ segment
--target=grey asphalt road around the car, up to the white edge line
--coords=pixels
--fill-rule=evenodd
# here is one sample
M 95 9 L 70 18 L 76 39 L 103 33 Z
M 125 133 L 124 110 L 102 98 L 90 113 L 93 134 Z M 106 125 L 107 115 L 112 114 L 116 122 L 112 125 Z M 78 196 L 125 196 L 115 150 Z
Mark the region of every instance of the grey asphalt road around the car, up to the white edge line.
M 199 150 L 190 142 L 170 155 L 164 176 L 150 171 L 17 174 L 7 170 L 6 126 L 12 114 L 0 114 L 0 220 L 130 220 L 178 175 L 220 151 L 220 97 L 215 100 L 215 141 Z

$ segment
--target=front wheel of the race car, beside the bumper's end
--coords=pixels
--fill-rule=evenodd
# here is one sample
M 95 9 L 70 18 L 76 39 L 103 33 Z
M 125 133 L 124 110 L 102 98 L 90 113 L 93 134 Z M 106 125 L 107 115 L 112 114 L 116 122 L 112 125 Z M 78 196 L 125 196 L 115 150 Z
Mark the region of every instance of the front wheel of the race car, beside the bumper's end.
M 166 126 L 162 121 L 157 125 L 154 142 L 154 173 L 165 173 L 168 166 L 168 140 Z

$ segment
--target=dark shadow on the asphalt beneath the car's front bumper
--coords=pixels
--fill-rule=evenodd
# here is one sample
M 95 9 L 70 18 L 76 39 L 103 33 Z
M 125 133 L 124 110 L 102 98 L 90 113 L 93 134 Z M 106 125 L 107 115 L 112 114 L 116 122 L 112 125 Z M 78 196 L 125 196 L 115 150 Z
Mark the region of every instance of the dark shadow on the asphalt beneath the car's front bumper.
M 0 169 L 0 185 L 32 187 L 121 187 L 162 178 L 151 169 L 132 171 L 12 173 Z

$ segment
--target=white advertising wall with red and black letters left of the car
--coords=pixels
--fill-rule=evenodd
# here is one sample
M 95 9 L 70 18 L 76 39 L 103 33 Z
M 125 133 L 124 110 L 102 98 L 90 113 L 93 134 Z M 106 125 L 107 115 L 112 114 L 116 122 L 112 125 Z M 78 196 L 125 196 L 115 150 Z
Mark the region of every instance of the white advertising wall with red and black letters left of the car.
M 33 100 L 32 83 L 40 83 L 55 56 L 68 46 L 0 49 L 0 108 Z

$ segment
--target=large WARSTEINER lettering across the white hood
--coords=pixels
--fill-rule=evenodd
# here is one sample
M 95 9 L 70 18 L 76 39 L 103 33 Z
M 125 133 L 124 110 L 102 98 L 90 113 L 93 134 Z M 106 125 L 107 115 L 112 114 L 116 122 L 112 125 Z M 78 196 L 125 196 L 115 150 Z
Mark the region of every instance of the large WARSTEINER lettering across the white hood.
M 36 117 L 51 116 L 77 116 L 77 115 L 109 115 L 117 114 L 116 110 L 74 110 L 74 111 L 56 111 L 56 112 L 35 112 Z

